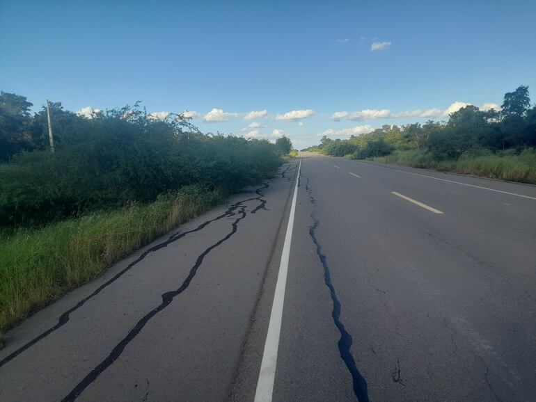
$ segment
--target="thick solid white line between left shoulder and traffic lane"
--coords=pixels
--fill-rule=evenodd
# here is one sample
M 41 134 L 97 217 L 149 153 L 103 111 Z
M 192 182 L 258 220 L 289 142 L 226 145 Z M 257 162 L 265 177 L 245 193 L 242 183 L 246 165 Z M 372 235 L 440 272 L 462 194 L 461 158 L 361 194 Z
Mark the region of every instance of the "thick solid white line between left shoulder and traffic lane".
M 255 402 L 270 402 L 274 392 L 277 351 L 279 348 L 279 335 L 281 333 L 281 319 L 283 319 L 283 301 L 285 300 L 288 260 L 290 257 L 290 242 L 292 241 L 292 228 L 294 227 L 294 213 L 296 211 L 300 170 L 301 159 L 299 160 L 296 186 L 294 186 L 294 195 L 292 196 L 292 204 L 290 206 L 290 215 L 288 217 L 285 243 L 283 243 L 283 252 L 281 253 L 281 263 L 279 264 L 279 273 L 277 275 L 276 291 L 274 292 L 274 303 L 271 305 L 265 351 L 262 353 L 262 362 L 260 363 L 259 380 L 257 383 L 257 390 L 255 391 Z

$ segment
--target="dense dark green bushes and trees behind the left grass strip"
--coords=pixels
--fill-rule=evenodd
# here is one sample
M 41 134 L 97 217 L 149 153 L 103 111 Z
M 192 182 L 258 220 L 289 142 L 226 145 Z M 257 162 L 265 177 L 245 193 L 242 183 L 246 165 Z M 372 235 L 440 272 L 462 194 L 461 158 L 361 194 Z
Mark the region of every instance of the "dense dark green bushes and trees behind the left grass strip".
M 276 172 L 290 140 L 202 134 L 180 114 L 164 120 L 139 103 L 84 118 L 50 108 L 30 113 L 26 97 L 0 94 L 0 227 L 42 225 L 152 202 L 184 186 L 226 193 Z

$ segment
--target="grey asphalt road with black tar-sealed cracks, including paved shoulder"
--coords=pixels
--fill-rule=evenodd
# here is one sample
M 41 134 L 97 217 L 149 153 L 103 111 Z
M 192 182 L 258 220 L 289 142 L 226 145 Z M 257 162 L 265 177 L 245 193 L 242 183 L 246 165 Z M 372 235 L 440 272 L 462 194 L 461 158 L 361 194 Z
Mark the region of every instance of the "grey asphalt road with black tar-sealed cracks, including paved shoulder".
M 303 156 L 8 332 L 0 401 L 535 401 L 536 186 Z

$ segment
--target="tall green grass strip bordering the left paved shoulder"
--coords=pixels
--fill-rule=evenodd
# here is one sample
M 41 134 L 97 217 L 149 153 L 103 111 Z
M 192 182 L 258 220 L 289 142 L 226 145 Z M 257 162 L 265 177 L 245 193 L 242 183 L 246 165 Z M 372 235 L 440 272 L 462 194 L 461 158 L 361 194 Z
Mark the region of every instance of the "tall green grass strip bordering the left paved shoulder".
M 225 195 L 188 187 L 151 204 L 88 214 L 42 229 L 4 231 L 0 234 L 0 348 L 2 331 L 97 278 L 107 266 L 210 209 Z

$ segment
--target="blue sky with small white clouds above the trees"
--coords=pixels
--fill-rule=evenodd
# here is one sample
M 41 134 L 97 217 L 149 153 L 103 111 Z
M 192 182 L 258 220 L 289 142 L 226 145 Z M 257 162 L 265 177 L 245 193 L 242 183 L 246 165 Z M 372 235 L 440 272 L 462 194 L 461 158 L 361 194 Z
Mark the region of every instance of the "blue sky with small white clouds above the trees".
M 36 109 L 141 100 L 301 149 L 490 107 L 519 85 L 534 101 L 535 38 L 534 0 L 0 0 L 0 89 Z

